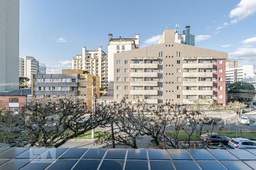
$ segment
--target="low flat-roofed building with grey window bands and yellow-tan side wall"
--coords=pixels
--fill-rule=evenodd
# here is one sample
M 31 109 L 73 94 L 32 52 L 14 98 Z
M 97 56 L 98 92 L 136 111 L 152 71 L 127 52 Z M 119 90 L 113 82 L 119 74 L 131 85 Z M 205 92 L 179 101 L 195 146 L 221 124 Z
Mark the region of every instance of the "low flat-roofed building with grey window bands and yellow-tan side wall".
M 32 97 L 39 99 L 43 96 L 76 95 L 91 108 L 92 87 L 93 95 L 100 97 L 99 79 L 99 76 L 84 74 L 83 70 L 62 70 L 62 74 L 33 74 Z

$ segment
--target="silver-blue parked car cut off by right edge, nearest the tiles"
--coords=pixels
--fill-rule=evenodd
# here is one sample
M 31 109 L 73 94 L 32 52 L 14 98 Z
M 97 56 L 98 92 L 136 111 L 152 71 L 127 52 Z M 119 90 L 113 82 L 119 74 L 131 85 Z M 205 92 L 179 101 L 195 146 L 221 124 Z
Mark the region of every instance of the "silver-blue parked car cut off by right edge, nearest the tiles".
M 248 148 L 254 148 L 256 149 L 256 142 L 250 141 L 249 139 L 245 138 L 232 138 L 228 146 L 234 149 L 248 149 Z

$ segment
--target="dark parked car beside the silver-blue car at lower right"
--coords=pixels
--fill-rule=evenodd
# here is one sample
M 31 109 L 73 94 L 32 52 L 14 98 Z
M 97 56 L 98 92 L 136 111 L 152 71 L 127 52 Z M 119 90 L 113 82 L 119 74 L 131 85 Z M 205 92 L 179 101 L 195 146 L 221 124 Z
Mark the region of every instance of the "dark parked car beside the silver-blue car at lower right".
M 203 142 L 219 144 L 220 142 L 224 145 L 228 145 L 230 138 L 218 135 L 217 133 L 206 133 L 200 136 Z

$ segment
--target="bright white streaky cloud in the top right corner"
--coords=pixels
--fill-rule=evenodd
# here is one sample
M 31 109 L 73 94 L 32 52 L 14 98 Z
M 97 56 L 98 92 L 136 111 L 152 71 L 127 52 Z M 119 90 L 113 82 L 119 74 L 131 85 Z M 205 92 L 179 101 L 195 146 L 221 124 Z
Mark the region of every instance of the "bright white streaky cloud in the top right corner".
M 229 12 L 230 22 L 225 22 L 221 25 L 217 25 L 216 32 L 220 32 L 221 29 L 227 27 L 230 24 L 236 24 L 241 20 L 253 15 L 256 12 L 255 0 L 241 0 L 233 10 Z

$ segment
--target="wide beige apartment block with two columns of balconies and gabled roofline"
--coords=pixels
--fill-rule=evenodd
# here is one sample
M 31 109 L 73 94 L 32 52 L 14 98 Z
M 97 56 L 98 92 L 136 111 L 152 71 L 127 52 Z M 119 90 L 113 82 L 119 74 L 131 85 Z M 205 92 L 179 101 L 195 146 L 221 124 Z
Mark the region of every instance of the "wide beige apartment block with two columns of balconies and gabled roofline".
M 177 34 L 165 29 L 156 45 L 114 54 L 115 101 L 193 104 L 207 97 L 225 105 L 228 54 L 177 43 Z

